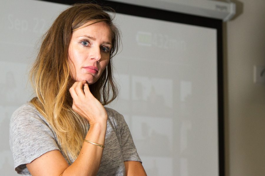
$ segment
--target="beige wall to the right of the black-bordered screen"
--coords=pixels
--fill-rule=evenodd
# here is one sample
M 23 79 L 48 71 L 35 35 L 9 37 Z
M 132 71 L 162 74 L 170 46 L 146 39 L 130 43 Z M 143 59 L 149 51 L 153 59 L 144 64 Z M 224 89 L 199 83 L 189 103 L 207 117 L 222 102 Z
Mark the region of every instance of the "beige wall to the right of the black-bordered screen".
M 226 176 L 265 175 L 265 85 L 253 66 L 265 66 L 265 0 L 239 0 L 224 23 Z

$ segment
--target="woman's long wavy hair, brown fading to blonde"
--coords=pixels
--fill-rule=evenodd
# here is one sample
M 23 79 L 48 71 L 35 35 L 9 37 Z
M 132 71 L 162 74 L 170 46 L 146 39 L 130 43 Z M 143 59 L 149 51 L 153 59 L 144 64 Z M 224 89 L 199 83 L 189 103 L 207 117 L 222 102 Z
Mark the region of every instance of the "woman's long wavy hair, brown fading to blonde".
M 69 88 L 73 78 L 70 75 L 68 48 L 72 31 L 85 23 L 104 21 L 112 32 L 110 62 L 101 77 L 89 85 L 91 93 L 102 105 L 113 101 L 118 94 L 112 74 L 112 57 L 117 53 L 120 32 L 113 24 L 114 17 L 97 4 L 75 4 L 63 11 L 43 36 L 37 58 L 30 71 L 30 81 L 37 97 L 30 102 L 50 123 L 56 133 L 59 145 L 67 159 L 77 158 L 87 134 L 89 122 L 72 109 Z

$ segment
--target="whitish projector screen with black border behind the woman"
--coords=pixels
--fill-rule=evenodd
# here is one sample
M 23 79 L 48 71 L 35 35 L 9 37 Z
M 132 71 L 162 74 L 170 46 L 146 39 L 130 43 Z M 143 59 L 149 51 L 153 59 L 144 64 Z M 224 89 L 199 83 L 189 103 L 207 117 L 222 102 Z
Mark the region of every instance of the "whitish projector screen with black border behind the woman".
M 11 114 L 34 94 L 27 84 L 41 36 L 68 5 L 1 3 L 0 173 L 17 175 Z M 114 60 L 124 115 L 150 176 L 218 176 L 217 29 L 117 13 L 122 50 Z

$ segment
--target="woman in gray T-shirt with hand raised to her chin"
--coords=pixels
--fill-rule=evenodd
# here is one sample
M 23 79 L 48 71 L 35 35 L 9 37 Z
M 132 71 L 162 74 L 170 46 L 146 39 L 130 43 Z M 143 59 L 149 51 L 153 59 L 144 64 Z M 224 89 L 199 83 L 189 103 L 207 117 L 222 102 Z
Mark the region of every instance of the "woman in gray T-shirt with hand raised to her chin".
M 119 31 L 95 4 L 63 11 L 30 76 L 37 97 L 12 115 L 10 146 L 24 175 L 146 175 L 122 115 L 112 57 Z

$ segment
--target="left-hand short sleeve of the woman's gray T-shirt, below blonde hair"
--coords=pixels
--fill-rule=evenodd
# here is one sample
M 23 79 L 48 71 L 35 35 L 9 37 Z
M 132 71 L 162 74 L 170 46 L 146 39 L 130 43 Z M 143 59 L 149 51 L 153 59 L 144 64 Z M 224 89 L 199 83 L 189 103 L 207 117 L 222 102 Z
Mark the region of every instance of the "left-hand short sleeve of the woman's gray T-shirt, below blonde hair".
M 10 148 L 19 174 L 29 174 L 26 164 L 51 150 L 59 150 L 55 134 L 31 105 L 17 109 L 10 120 Z

